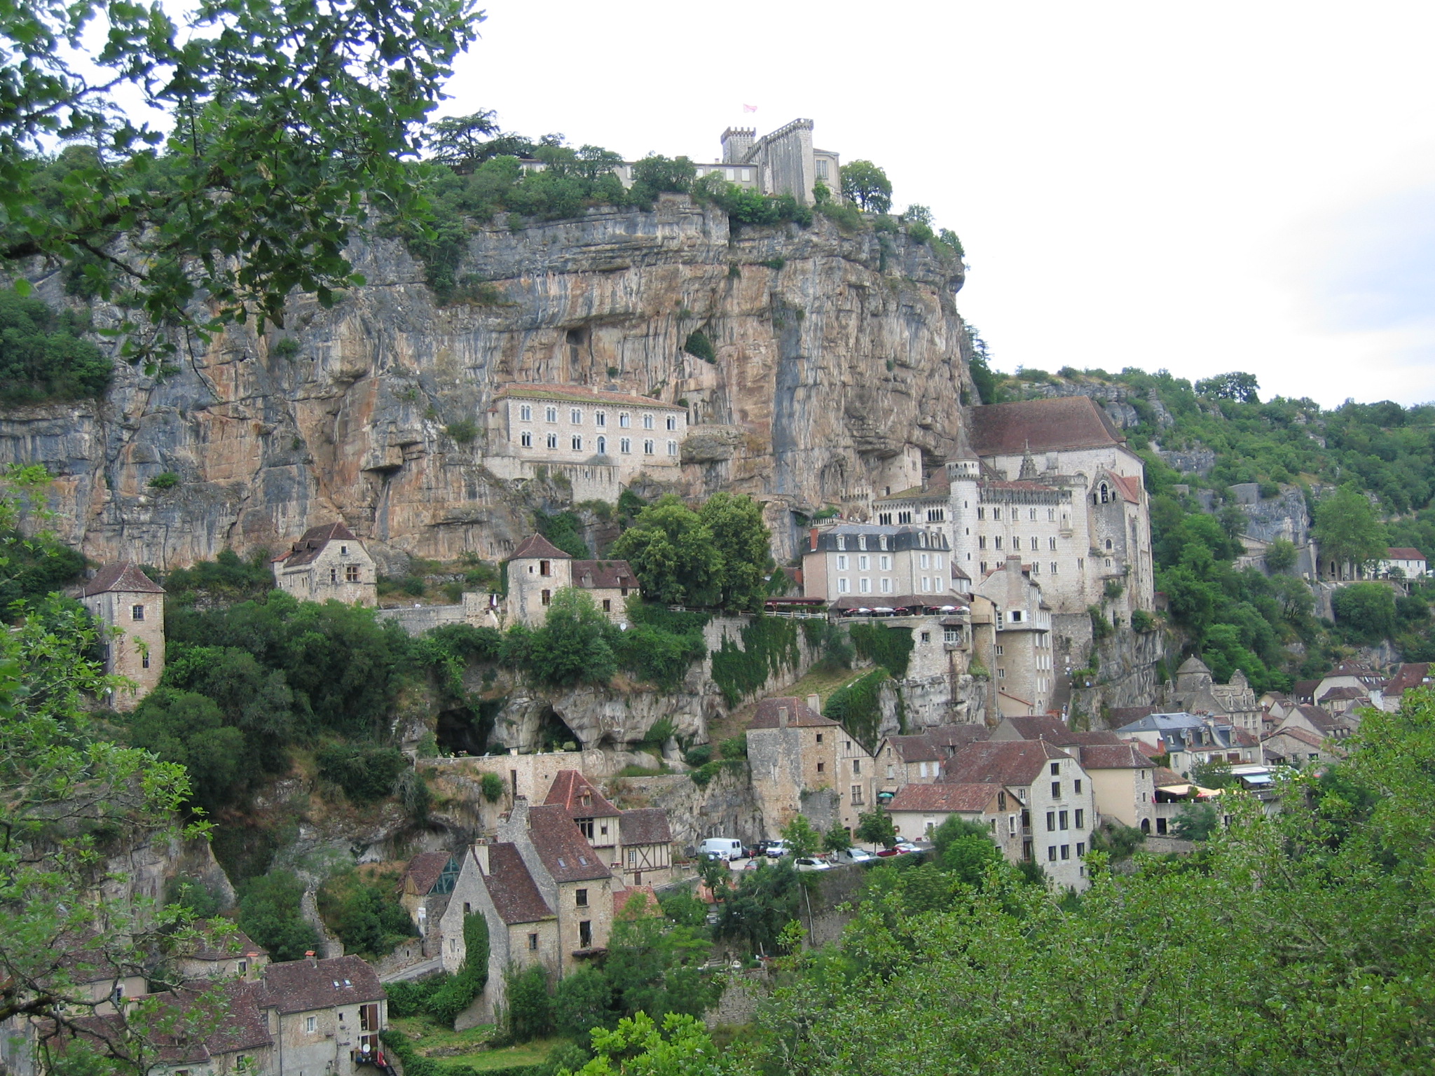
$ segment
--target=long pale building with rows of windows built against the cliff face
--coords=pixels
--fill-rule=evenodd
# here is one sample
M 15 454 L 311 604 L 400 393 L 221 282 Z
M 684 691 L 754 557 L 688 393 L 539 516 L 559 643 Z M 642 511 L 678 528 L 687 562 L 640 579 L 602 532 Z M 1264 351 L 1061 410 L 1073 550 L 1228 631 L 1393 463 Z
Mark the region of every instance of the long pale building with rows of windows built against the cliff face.
M 686 433 L 687 409 L 649 396 L 508 384 L 488 409 L 484 462 L 509 481 L 563 475 L 574 501 L 616 502 L 640 473 L 676 469 Z

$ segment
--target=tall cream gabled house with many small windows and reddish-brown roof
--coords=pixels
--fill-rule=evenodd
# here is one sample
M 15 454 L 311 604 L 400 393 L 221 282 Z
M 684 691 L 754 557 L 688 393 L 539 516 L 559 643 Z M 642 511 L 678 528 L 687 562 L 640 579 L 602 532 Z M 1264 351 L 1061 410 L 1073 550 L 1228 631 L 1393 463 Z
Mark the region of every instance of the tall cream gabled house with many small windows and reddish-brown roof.
M 970 743 L 946 763 L 944 780 L 1016 793 L 1029 819 L 1022 858 L 1035 858 L 1062 888 L 1079 892 L 1089 885 L 1085 858 L 1096 806 L 1091 778 L 1072 755 L 1045 740 Z

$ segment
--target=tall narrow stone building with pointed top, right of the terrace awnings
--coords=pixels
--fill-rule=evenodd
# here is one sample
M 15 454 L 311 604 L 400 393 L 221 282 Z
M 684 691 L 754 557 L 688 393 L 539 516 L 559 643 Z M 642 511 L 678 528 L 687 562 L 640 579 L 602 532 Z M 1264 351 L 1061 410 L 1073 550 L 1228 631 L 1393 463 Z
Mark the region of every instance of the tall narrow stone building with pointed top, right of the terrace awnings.
M 1046 713 L 1056 689 L 1052 610 L 1017 554 L 986 572 L 976 593 L 996 611 L 992 679 L 1003 717 Z

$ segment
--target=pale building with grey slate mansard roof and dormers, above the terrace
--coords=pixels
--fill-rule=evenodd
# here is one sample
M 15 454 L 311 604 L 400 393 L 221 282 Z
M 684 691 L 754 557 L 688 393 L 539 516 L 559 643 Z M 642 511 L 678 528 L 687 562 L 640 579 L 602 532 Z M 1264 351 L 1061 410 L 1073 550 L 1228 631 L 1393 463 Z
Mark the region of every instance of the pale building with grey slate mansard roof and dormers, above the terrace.
M 940 527 L 838 524 L 808 532 L 802 594 L 888 605 L 903 595 L 926 601 L 956 594 L 951 548 Z

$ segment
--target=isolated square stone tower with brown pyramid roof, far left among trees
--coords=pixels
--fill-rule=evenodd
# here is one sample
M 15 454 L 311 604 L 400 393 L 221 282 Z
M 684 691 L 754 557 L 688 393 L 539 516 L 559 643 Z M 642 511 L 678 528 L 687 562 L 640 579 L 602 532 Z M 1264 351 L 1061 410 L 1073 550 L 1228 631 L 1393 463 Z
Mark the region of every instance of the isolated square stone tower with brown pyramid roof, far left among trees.
M 133 710 L 155 690 L 165 671 L 165 588 L 129 561 L 106 564 L 95 574 L 80 603 L 105 628 L 119 628 L 105 648 L 105 671 L 133 687 L 110 697 L 116 710 Z

